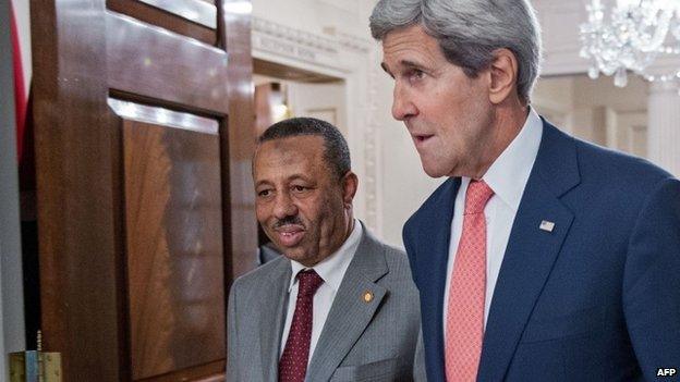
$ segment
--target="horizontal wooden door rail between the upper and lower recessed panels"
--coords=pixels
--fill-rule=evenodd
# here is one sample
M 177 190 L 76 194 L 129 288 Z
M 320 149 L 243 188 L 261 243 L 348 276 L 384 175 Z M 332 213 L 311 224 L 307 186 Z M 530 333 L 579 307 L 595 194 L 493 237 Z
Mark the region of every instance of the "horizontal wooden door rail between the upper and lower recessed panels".
M 206 113 L 229 113 L 223 50 L 114 12 L 107 12 L 106 29 L 111 88 Z

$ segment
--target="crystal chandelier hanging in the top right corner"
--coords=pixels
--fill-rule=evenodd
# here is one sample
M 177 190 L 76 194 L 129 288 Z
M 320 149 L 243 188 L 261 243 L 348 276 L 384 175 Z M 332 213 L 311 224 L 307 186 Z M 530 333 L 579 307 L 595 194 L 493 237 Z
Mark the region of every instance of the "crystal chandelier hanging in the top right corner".
M 628 84 L 627 71 L 654 82 L 680 81 L 680 70 L 648 73 L 661 56 L 680 54 L 680 0 L 617 0 L 606 15 L 600 0 L 586 5 L 581 24 L 581 57 L 591 61 L 588 76 L 614 75 L 614 84 Z M 672 45 L 667 45 L 668 35 Z

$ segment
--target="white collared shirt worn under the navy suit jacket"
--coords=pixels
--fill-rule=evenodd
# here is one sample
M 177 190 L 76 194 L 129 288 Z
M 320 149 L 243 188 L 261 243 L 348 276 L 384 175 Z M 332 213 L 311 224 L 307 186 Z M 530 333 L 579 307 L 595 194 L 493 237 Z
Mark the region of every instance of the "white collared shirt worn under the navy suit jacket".
M 543 121 L 538 114 L 530 109 L 529 116 L 517 137 L 506 147 L 501 155 L 494 161 L 491 167 L 482 176 L 482 180 L 494 190 L 494 196 L 484 208 L 486 218 L 486 295 L 484 304 L 484 328 L 488 320 L 489 307 L 494 297 L 494 288 L 500 272 L 514 222 L 514 215 L 520 207 L 522 194 L 526 187 L 529 175 L 543 136 Z M 451 221 L 451 241 L 449 245 L 449 260 L 447 264 L 447 282 L 444 294 L 444 331 L 446 335 L 447 307 L 449 301 L 449 288 L 456 252 L 463 230 L 463 211 L 465 206 L 465 193 L 470 177 L 463 176 L 456 195 L 456 207 Z

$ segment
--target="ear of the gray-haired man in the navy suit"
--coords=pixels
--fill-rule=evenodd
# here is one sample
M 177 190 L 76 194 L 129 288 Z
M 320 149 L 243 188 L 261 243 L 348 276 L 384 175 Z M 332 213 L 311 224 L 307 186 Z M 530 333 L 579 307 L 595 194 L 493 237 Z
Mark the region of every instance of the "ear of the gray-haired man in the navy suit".
M 489 67 L 489 101 L 501 103 L 509 96 L 517 95 L 519 65 L 510 49 L 501 48 L 494 51 L 494 60 Z

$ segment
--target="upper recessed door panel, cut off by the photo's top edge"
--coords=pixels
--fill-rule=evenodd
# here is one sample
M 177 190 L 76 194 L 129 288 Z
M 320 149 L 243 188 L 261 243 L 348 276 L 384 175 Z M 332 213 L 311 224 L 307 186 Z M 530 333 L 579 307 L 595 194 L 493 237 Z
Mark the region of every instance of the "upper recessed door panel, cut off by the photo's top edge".
M 202 0 L 107 0 L 107 8 L 210 46 L 218 41 L 214 3 Z

